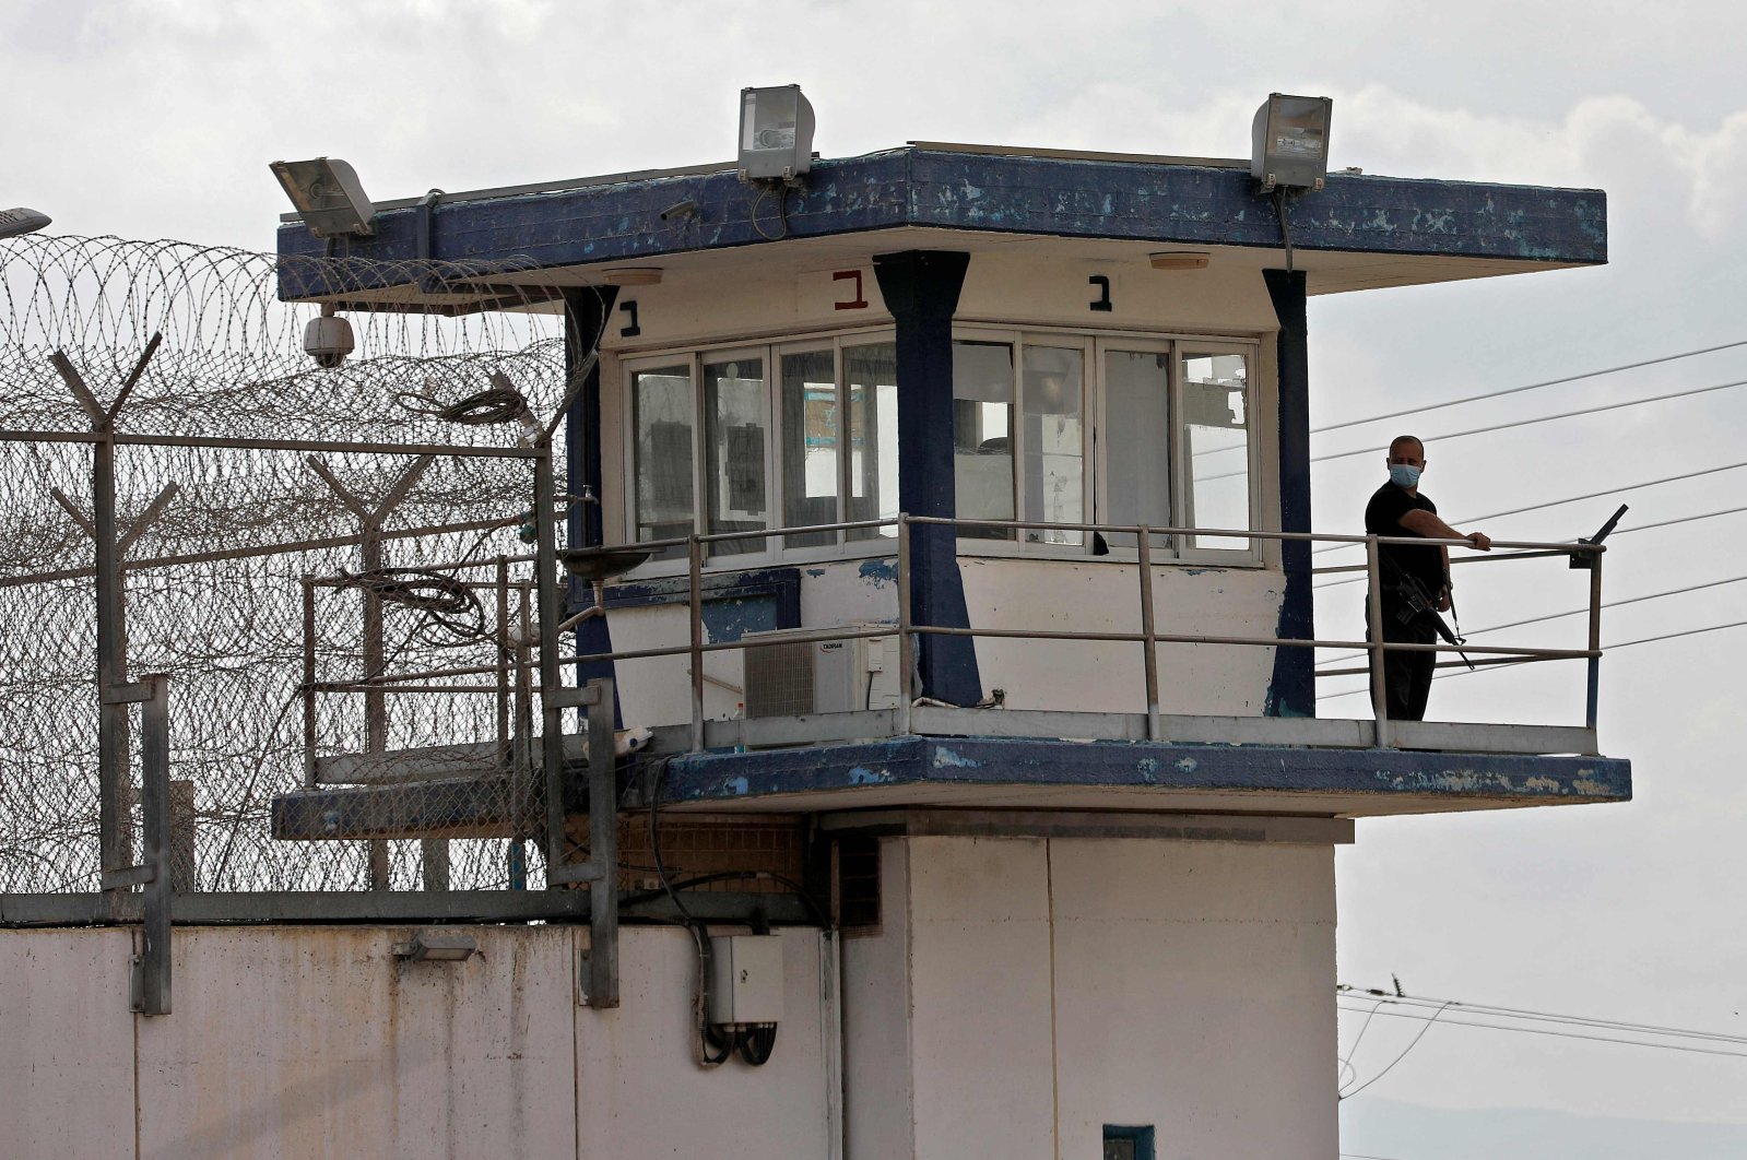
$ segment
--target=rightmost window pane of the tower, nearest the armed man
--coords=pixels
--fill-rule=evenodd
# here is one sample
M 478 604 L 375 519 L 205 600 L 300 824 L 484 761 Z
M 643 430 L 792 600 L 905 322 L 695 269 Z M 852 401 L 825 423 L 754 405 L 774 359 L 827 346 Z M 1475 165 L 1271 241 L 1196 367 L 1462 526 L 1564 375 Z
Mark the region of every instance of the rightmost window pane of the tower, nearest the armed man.
M 1191 528 L 1249 528 L 1249 362 L 1244 355 L 1183 356 L 1183 442 Z M 1191 536 L 1191 547 L 1242 552 L 1240 536 Z

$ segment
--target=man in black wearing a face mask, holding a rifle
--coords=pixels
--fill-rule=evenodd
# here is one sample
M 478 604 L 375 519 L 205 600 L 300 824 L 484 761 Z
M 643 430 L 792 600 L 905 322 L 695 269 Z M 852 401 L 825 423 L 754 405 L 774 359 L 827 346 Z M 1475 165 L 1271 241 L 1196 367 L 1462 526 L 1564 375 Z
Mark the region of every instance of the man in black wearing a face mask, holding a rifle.
M 1413 435 L 1398 435 L 1389 444 L 1389 482 L 1377 489 L 1364 505 L 1364 533 L 1371 536 L 1422 536 L 1427 540 L 1467 540 L 1476 550 L 1492 549 L 1492 538 L 1483 531 L 1464 535 L 1438 519 L 1438 505 L 1419 493 L 1419 477 L 1426 470 L 1426 444 Z M 1426 601 L 1438 611 L 1450 608 L 1450 550 L 1447 547 L 1415 547 L 1412 543 L 1378 545 L 1384 585 L 1384 639 L 1399 645 L 1433 645 L 1438 629 L 1433 618 L 1415 613 L 1403 596 L 1403 587 L 1419 583 Z M 1373 594 L 1375 596 L 1375 594 Z M 1370 617 L 1366 617 L 1370 625 Z M 1364 639 L 1371 639 L 1366 627 Z M 1384 704 L 1389 720 L 1426 720 L 1426 697 L 1431 694 L 1431 674 L 1438 662 L 1434 652 L 1384 653 Z M 1373 690 L 1375 694 L 1375 690 Z

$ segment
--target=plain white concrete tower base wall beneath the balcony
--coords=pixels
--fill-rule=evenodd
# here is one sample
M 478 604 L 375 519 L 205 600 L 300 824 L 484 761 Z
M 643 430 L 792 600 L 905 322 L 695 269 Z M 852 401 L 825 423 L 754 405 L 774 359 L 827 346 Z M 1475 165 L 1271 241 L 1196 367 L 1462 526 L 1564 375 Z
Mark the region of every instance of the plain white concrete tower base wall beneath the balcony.
M 884 963 L 887 994 L 849 1012 L 903 1010 L 908 1032 L 847 1041 L 853 1160 L 1099 1160 L 1106 1123 L 1153 1125 L 1172 1160 L 1336 1155 L 1331 847 L 959 837 L 882 858 L 905 873 L 846 970 Z M 854 1113 L 868 1074 L 900 1113 L 879 1073 L 905 1039 L 914 1153 Z

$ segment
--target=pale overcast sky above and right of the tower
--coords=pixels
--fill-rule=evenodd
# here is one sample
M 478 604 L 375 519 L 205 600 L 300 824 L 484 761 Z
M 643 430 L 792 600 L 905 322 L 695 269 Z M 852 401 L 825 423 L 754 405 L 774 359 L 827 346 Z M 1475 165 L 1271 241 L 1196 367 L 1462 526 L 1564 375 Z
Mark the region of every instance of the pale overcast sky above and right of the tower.
M 346 157 L 377 199 L 720 161 L 746 84 L 798 82 L 828 157 L 907 140 L 1244 155 L 1256 105 L 1288 91 L 1335 100 L 1335 166 L 1609 196 L 1607 267 L 1315 299 L 1315 425 L 1747 339 L 1747 5 L 5 0 L 0 21 L 0 206 L 47 211 L 54 232 L 267 250 L 287 208 L 276 157 Z M 1747 388 L 1436 435 L 1735 379 L 1744 351 L 1329 433 L 1315 449 L 1420 432 L 1424 489 L 1467 528 L 1747 459 Z M 1373 458 L 1319 466 L 1317 528 L 1356 531 L 1377 482 Z M 1623 496 L 1623 528 L 1735 507 L 1740 482 L 1724 472 Z M 1474 526 L 1576 536 L 1618 501 Z M 1623 535 L 1607 594 L 1747 573 L 1744 533 L 1730 515 Z M 1457 575 L 1469 629 L 1585 599 L 1562 566 Z M 1604 639 L 1747 618 L 1744 592 L 1621 608 Z M 1356 587 L 1319 597 L 1321 634 L 1357 624 Z M 1578 625 L 1508 639 L 1579 643 Z M 1747 1034 L 1744 643 L 1733 629 L 1604 662 L 1602 742 L 1633 760 L 1630 805 L 1361 823 L 1338 854 L 1342 978 L 1396 973 L 1440 999 Z M 1324 702 L 1363 709 L 1363 697 Z M 1578 666 L 1464 676 L 1433 695 L 1447 720 L 1581 713 Z M 1415 1029 L 1377 1022 L 1352 1060 L 1361 1080 Z M 1434 1027 L 1366 1095 L 1747 1123 L 1744 1092 L 1747 1059 Z M 1356 1134 L 1347 1146 L 1359 1150 Z M 1454 1155 L 1434 1148 L 1399 1157 Z

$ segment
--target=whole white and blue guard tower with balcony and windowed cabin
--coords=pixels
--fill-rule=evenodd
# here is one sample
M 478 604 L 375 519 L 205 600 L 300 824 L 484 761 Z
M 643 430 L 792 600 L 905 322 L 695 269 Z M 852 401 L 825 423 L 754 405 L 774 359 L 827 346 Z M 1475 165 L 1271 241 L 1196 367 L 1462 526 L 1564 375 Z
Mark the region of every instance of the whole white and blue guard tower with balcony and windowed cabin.
M 587 889 L 828 900 L 849 1155 L 1335 1155 L 1335 846 L 1625 800 L 1630 765 L 1593 639 L 1548 653 L 1581 725 L 1317 718 L 1307 300 L 1602 264 L 1604 196 L 929 142 L 760 173 L 386 203 L 349 255 L 454 280 L 283 287 L 564 314 L 540 744 L 554 832 L 613 851 Z M 608 725 L 643 746 L 611 777 Z M 276 832 L 419 784 L 287 795 Z

